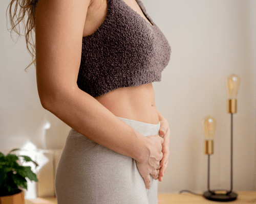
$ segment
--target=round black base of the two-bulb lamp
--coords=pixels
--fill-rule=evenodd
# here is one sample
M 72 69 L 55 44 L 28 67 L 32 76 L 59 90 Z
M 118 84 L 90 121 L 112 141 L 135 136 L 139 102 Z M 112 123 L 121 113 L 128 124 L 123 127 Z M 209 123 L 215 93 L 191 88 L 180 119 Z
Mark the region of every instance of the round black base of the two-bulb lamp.
M 220 191 L 220 190 L 216 190 L 216 191 L 205 191 L 203 193 L 203 196 L 208 199 L 208 200 L 214 200 L 214 201 L 220 201 L 220 202 L 227 202 L 227 201 L 233 201 L 236 200 L 238 197 L 238 194 L 235 192 L 230 192 L 230 193 L 224 193 L 227 192 L 225 190 Z

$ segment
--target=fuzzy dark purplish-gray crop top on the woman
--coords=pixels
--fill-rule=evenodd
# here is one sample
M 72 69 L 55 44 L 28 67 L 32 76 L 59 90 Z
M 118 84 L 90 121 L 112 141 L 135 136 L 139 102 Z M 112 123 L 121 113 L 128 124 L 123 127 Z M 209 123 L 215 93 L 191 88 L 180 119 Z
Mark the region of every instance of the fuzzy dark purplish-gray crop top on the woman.
M 145 17 L 123 0 L 107 0 L 100 27 L 82 38 L 77 85 L 93 97 L 121 87 L 161 81 L 170 59 L 170 45 L 140 0 Z

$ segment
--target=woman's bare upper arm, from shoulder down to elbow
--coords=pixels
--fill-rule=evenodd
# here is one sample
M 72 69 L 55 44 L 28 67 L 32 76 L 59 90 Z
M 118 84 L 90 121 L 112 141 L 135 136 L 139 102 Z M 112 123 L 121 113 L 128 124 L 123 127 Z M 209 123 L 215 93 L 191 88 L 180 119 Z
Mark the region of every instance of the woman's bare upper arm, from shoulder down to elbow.
M 39 0 L 36 78 L 41 103 L 77 88 L 84 22 L 91 0 Z M 44 105 L 43 105 L 44 106 Z

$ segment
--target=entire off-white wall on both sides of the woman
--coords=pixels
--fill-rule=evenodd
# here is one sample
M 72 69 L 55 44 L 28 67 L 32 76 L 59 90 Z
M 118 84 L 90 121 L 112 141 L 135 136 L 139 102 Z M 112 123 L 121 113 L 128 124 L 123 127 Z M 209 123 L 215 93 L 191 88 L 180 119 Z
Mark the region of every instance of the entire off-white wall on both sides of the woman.
M 35 68 L 24 71 L 31 62 L 25 37 L 14 44 L 6 29 L 9 2 L 0 3 L 0 151 L 22 147 L 27 141 L 38 148 L 61 148 L 70 127 L 40 105 Z M 162 82 L 153 83 L 157 108 L 171 131 L 169 164 L 159 192 L 207 190 L 201 127 L 207 115 L 217 120 L 210 188 L 229 190 L 225 80 L 231 73 L 241 78 L 238 112 L 233 114 L 233 190 L 256 190 L 256 1 L 142 2 L 172 46 Z M 51 127 L 44 133 L 46 121 Z

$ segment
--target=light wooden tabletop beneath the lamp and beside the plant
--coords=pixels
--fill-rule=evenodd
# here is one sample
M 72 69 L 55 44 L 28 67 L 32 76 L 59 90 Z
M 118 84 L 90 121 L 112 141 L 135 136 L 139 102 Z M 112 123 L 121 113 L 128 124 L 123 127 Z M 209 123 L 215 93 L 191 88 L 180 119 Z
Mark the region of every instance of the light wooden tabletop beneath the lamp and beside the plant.
M 238 193 L 238 198 L 234 201 L 228 203 L 256 203 L 256 191 L 235 191 Z M 56 204 L 56 198 L 37 198 L 25 200 L 25 204 Z M 200 204 L 200 203 L 224 203 L 207 200 L 202 196 L 194 195 L 191 193 L 183 192 L 181 194 L 178 193 L 168 193 L 168 194 L 158 194 L 158 204 Z M 61 204 L 61 203 L 60 203 Z M 71 203 L 72 204 L 72 203 Z M 132 203 L 131 203 L 132 204 Z

